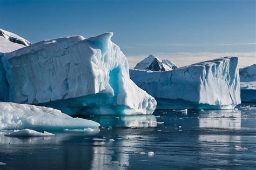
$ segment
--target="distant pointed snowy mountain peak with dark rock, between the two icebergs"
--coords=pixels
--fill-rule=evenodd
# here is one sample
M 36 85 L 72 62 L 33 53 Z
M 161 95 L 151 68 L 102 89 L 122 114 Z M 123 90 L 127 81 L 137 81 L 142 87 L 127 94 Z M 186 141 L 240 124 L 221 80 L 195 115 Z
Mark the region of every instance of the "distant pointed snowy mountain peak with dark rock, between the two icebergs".
M 159 58 L 149 55 L 144 60 L 139 62 L 134 69 L 138 70 L 151 70 L 151 71 L 169 71 L 177 69 L 177 65 L 171 62 L 170 60 L 164 59 L 160 60 Z

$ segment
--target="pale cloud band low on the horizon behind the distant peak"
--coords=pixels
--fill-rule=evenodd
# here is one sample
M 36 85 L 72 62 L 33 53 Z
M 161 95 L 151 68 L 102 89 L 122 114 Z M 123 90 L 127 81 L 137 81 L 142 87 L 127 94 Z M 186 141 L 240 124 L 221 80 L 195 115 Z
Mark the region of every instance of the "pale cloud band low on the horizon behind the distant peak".
M 138 62 L 143 60 L 150 54 L 145 55 L 126 55 L 130 69 L 132 69 Z M 256 63 L 256 52 L 173 52 L 173 53 L 154 53 L 160 59 L 169 59 L 178 66 L 190 65 L 193 63 L 211 60 L 225 56 L 238 56 L 239 67 L 245 67 Z

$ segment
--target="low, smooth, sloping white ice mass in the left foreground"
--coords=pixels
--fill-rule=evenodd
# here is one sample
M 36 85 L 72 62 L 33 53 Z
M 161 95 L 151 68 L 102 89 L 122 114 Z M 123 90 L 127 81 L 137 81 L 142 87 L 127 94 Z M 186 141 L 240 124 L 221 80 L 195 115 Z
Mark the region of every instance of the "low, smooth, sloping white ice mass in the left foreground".
M 98 128 L 95 121 L 72 118 L 47 107 L 0 102 L 0 130 L 64 130 Z M 21 133 L 21 132 L 19 132 Z

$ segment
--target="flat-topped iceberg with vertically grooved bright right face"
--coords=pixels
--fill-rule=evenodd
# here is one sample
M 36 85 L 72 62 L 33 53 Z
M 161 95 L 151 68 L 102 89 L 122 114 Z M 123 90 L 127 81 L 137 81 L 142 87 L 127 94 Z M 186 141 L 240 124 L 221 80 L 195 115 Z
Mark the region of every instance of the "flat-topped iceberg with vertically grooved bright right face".
M 130 78 L 156 98 L 159 109 L 230 109 L 241 103 L 238 57 L 164 72 L 130 70 Z

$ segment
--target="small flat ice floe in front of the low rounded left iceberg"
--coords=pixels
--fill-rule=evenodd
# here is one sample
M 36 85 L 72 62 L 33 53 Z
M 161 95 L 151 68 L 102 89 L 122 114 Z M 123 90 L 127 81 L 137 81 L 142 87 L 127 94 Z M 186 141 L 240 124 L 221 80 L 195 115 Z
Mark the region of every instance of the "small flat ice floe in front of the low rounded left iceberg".
M 14 130 L 13 132 L 8 132 L 4 135 L 8 137 L 44 137 L 44 136 L 54 136 L 55 134 L 45 132 L 45 131 L 37 132 L 37 131 L 26 128 L 24 130 Z

